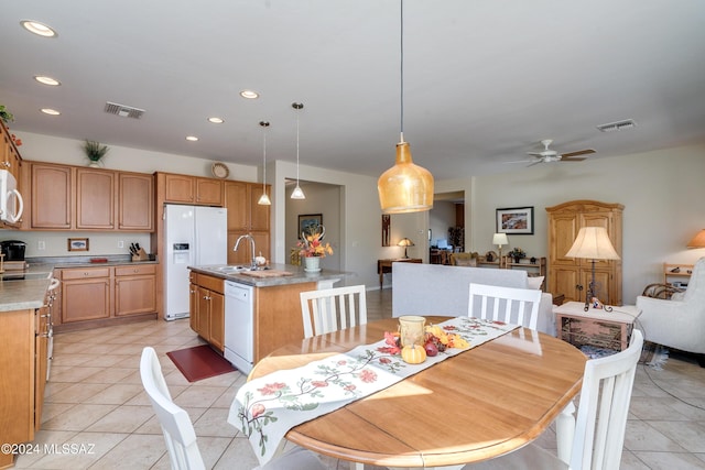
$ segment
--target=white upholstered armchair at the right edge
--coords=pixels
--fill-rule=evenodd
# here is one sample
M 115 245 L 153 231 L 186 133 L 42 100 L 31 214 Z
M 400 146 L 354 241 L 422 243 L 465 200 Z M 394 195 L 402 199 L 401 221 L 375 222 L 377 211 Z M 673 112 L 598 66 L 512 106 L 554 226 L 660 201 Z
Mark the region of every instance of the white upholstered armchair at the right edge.
M 705 258 L 695 263 L 685 292 L 670 300 L 639 296 L 637 307 L 644 340 L 701 354 L 705 367 Z

